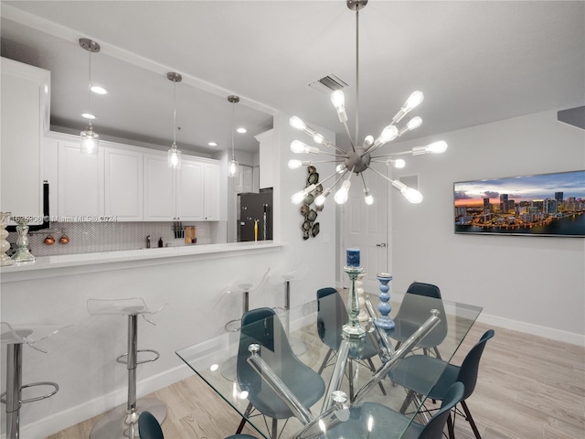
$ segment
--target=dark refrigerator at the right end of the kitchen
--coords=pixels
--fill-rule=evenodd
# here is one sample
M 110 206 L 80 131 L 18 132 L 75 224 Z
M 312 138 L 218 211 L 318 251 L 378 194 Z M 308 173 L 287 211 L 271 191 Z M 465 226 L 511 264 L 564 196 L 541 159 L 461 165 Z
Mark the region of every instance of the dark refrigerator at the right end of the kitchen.
M 238 194 L 238 241 L 272 239 L 272 188 Z

